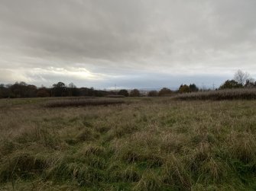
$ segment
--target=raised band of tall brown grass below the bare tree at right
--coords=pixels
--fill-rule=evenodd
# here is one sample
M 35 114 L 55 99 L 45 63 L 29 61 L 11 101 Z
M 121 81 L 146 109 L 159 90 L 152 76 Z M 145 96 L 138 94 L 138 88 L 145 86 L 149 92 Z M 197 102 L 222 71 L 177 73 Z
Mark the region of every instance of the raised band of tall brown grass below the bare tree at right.
M 228 89 L 179 94 L 174 100 L 255 100 L 256 88 Z

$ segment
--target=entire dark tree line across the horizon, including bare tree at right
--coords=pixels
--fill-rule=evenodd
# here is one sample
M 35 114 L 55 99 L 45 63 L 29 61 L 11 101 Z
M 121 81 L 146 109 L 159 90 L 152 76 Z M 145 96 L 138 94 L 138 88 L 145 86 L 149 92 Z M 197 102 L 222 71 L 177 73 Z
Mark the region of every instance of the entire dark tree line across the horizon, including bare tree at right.
M 219 89 L 228 88 L 256 88 L 256 81 L 248 74 L 238 70 L 235 72 L 232 80 L 225 81 Z M 216 89 L 218 90 L 218 89 Z M 162 88 L 160 91 L 148 91 L 147 94 L 141 94 L 138 89 L 131 91 L 122 89 L 119 91 L 102 91 L 94 88 L 77 88 L 75 84 L 64 84 L 58 82 L 53 84 L 51 88 L 42 86 L 37 88 L 33 84 L 27 84 L 23 81 L 15 84 L 0 84 L 0 98 L 18 98 L 18 97 L 161 97 L 170 96 L 172 94 L 184 94 L 200 90 L 196 84 L 181 84 L 177 91 L 172 91 L 169 88 Z

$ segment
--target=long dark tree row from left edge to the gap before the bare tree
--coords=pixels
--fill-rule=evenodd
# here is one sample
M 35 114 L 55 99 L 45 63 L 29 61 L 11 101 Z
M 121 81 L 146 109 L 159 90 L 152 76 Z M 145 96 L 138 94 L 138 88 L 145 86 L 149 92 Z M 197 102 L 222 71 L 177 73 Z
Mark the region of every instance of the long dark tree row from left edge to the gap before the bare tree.
M 142 94 L 138 89 L 128 91 L 102 91 L 94 88 L 77 88 L 75 84 L 68 85 L 63 82 L 53 84 L 51 88 L 37 88 L 33 84 L 24 81 L 15 84 L 0 84 L 0 98 L 23 98 L 23 97 L 140 97 L 140 96 L 170 96 L 175 92 L 186 93 L 198 91 L 196 84 L 180 85 L 179 91 L 171 91 L 169 88 L 162 88 L 160 91 L 149 91 Z

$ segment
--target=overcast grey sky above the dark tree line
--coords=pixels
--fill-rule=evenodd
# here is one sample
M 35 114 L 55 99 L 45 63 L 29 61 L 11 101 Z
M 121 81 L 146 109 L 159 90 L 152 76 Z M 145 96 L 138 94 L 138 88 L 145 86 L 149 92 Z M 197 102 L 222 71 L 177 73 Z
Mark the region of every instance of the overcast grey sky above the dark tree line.
M 256 77 L 255 0 L 0 0 L 0 84 L 177 88 Z

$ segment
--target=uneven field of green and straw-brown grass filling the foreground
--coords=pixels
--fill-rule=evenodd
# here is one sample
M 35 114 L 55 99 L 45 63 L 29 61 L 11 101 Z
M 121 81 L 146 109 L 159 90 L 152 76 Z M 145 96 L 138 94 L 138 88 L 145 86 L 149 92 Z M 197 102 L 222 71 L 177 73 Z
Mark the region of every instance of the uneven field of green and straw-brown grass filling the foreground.
M 255 190 L 256 101 L 0 100 L 0 190 Z

